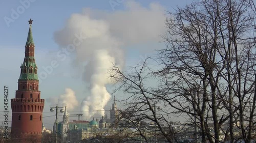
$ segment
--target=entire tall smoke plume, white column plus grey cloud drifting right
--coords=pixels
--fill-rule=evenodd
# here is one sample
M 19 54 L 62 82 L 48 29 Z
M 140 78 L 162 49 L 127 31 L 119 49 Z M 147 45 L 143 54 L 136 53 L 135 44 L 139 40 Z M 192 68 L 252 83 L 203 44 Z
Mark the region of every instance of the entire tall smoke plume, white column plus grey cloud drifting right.
M 65 27 L 54 35 L 60 48 L 73 43 L 75 35 L 86 37 L 71 53 L 75 55 L 71 67 L 82 67 L 76 69 L 82 69 L 83 81 L 90 83 L 90 95 L 81 95 L 83 116 L 104 115 L 104 106 L 111 98 L 106 89 L 110 83 L 108 71 L 113 64 L 123 68 L 125 48 L 146 41 L 159 42 L 159 35 L 164 32 L 164 9 L 160 5 L 152 3 L 149 8 L 135 2 L 124 5 L 124 11 L 115 12 L 84 9 L 81 14 L 71 15 Z

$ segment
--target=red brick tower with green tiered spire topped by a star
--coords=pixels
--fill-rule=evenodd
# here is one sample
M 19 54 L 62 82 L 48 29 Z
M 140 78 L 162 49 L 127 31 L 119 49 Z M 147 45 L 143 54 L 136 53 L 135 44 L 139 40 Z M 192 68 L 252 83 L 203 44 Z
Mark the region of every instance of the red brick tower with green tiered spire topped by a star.
M 29 33 L 25 45 L 25 58 L 20 66 L 18 90 L 11 99 L 12 142 L 41 142 L 42 111 L 45 100 L 40 99 L 37 67 L 34 58 L 32 21 L 29 20 Z

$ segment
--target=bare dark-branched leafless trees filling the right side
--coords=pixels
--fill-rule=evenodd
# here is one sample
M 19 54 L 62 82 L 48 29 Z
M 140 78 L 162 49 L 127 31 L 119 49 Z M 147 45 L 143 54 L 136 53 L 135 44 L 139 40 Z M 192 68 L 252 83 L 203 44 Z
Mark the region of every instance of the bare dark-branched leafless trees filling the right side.
M 111 78 L 120 83 L 117 90 L 129 94 L 122 117 L 134 126 L 154 122 L 151 130 L 135 126 L 146 141 L 153 130 L 178 142 L 190 125 L 195 141 L 250 142 L 256 134 L 253 1 L 203 0 L 169 14 L 163 37 L 167 46 L 157 58 L 126 72 L 111 70 Z M 154 59 L 160 70 L 148 66 Z M 157 114 L 158 105 L 164 114 Z M 172 116 L 184 121 L 175 123 Z M 178 124 L 181 128 L 174 128 Z

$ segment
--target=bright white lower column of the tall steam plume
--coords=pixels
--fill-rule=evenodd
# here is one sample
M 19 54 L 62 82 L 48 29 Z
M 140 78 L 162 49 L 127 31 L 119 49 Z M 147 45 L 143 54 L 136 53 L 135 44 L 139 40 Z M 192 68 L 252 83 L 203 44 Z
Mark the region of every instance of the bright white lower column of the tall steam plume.
M 105 88 L 105 84 L 110 83 L 108 80 L 109 68 L 112 66 L 111 62 L 115 62 L 114 57 L 111 57 L 107 50 L 95 50 L 92 59 L 86 66 L 87 69 L 93 73 L 91 80 L 91 96 L 82 101 L 81 109 L 85 112 L 86 116 L 90 115 L 104 115 L 104 106 L 111 98 L 110 94 Z M 97 66 L 97 67 L 96 67 Z

